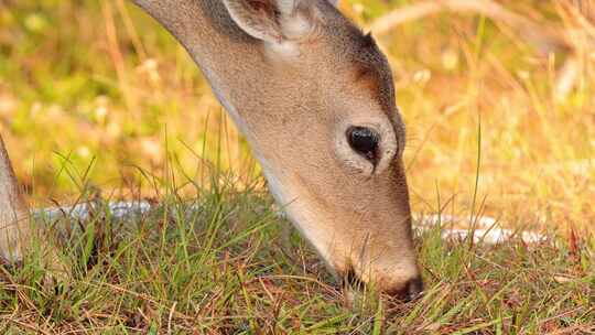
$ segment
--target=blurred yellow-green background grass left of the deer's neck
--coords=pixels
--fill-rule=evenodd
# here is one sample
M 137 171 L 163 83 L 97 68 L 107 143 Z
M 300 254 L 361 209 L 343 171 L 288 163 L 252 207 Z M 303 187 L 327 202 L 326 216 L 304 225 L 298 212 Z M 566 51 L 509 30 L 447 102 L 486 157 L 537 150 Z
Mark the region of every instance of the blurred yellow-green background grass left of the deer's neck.
M 216 161 L 218 145 L 221 168 L 247 165 L 246 144 L 196 66 L 127 2 L 19 1 L 2 7 L 2 133 L 35 198 L 77 195 L 56 175 L 64 156 L 79 170 L 93 161 L 102 187 L 133 183 L 139 166 L 158 172 L 166 151 L 187 171 L 196 154 Z

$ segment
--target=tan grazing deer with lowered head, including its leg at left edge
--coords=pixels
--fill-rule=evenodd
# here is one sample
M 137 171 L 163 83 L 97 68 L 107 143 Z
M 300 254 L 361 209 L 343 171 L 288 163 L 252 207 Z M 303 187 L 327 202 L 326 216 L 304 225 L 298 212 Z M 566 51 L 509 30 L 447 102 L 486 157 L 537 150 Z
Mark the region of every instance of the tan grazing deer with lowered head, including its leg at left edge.
M 246 137 L 272 197 L 340 281 L 422 292 L 392 72 L 337 0 L 132 0 L 187 51 Z M 1 142 L 1 141 L 0 141 Z M 33 241 L 3 142 L 0 253 Z M 47 262 L 54 262 L 47 246 Z

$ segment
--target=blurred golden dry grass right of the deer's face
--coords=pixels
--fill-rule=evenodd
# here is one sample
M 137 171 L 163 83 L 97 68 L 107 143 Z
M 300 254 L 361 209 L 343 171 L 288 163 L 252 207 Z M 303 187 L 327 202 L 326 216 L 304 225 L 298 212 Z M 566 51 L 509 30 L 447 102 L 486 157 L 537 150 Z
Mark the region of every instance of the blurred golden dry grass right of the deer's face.
M 573 41 L 578 75 L 564 97 L 556 85 L 569 54 L 540 55 L 500 22 L 450 13 L 385 41 L 409 127 L 414 207 L 439 210 L 440 193 L 446 213 L 468 214 L 475 201 L 473 212 L 517 228 L 593 229 L 594 68 L 581 44 L 593 26 L 565 7 L 523 4 L 544 29 L 587 35 Z

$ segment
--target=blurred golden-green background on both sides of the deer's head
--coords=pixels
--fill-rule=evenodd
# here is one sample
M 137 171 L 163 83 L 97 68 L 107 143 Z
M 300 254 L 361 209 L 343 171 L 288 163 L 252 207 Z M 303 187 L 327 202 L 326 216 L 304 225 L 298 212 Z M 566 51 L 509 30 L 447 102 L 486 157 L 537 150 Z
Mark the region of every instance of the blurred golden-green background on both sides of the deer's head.
M 340 9 L 392 65 L 414 212 L 594 230 L 595 4 Z M 35 206 L 158 197 L 167 179 L 191 197 L 214 169 L 238 185 L 259 173 L 185 51 L 125 0 L 0 0 L 0 133 Z

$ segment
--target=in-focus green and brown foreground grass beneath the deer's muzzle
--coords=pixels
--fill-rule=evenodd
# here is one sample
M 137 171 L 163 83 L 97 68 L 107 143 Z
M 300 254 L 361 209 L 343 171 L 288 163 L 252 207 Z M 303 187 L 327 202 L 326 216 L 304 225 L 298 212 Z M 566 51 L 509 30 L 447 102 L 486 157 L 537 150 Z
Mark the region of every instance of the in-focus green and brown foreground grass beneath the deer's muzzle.
M 98 207 L 63 218 L 65 287 L 43 285 L 39 257 L 3 271 L 3 334 L 592 334 L 595 240 L 539 245 L 444 241 L 418 231 L 425 294 L 402 303 L 375 292 L 350 300 L 280 218 L 256 180 L 119 221 Z M 172 187 L 175 188 L 175 187 Z M 47 225 L 47 223 L 45 224 Z M 61 227 L 78 227 L 60 229 Z

